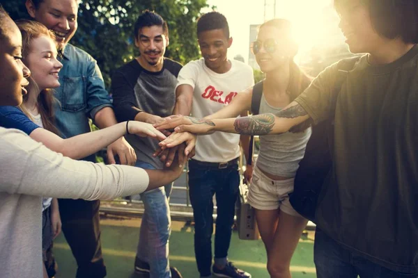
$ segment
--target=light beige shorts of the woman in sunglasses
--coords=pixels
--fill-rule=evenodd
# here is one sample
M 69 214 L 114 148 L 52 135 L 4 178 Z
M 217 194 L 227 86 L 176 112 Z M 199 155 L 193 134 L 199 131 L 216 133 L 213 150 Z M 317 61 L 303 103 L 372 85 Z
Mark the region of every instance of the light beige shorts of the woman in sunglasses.
M 256 166 L 249 184 L 248 203 L 263 211 L 280 208 L 284 213 L 302 217 L 289 202 L 289 193 L 293 192 L 294 181 L 295 178 L 274 181 Z

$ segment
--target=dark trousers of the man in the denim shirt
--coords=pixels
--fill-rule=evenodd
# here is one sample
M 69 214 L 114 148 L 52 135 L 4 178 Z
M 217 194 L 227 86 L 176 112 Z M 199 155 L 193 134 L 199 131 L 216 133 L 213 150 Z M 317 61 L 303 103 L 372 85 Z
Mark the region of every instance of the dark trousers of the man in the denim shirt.
M 78 265 L 76 277 L 105 277 L 100 243 L 100 201 L 58 199 L 58 202 L 63 234 Z

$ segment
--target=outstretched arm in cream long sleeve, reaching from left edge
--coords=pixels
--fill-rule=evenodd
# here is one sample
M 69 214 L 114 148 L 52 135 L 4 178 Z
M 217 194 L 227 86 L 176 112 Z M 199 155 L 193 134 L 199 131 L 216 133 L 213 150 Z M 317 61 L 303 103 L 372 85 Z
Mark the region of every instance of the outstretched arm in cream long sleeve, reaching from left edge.
M 183 172 L 74 161 L 15 129 L 0 128 L 0 192 L 72 199 L 114 199 L 164 186 Z

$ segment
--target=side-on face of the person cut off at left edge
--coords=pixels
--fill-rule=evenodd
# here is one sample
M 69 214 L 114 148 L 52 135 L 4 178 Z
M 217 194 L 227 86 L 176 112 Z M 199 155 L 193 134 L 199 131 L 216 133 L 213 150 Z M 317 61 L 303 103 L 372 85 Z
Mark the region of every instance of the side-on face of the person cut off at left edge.
M 22 35 L 10 19 L 1 22 L 3 36 L 0 38 L 0 105 L 19 106 L 27 78 L 31 72 L 22 63 Z

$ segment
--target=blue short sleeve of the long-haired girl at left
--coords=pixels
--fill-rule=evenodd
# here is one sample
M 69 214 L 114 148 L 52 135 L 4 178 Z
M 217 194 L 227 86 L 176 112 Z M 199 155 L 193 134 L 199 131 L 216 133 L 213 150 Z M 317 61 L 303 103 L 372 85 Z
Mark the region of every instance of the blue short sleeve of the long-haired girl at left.
M 27 135 L 40 127 L 15 106 L 0 106 L 0 126 L 6 129 L 19 129 Z

